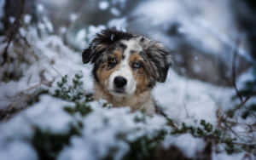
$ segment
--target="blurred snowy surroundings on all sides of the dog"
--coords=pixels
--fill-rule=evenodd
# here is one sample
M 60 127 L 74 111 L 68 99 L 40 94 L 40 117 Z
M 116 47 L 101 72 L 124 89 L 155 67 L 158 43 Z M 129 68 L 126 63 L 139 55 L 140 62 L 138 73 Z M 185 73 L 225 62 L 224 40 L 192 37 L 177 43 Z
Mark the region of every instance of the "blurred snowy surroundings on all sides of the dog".
M 0 159 L 253 159 L 255 17 L 255 0 L 0 0 Z M 172 52 L 165 117 L 93 100 L 81 54 L 106 28 Z

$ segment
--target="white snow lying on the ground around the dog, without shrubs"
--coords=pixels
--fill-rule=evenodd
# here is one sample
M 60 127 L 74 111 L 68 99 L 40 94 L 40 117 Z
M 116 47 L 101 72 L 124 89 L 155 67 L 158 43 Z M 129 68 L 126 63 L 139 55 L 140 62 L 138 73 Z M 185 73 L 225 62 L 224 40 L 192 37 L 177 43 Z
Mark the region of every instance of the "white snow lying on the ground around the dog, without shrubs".
M 101 5 L 101 8 L 108 7 L 104 3 Z M 125 28 L 124 21 L 111 20 L 108 25 Z M 19 99 L 21 93 L 32 94 L 39 88 L 49 89 L 49 92 L 53 93 L 58 88 L 56 82 L 64 75 L 67 75 L 68 83 L 72 83 L 72 77 L 76 73 L 82 74 L 84 92 L 93 93 L 93 79 L 90 73 L 92 66 L 84 65 L 81 53 L 69 49 L 60 36 L 48 34 L 45 31 L 47 26 L 50 26 L 48 21 L 40 24 L 38 28 L 28 26 L 20 30 L 30 48 L 21 49 L 16 43 L 10 45 L 9 54 L 12 56 L 15 57 L 15 54 L 21 52 L 35 58 L 32 58 L 30 65 L 20 66 L 23 76 L 19 80 L 0 82 L 0 109 L 7 106 L 26 107 L 26 102 Z M 105 26 L 90 26 L 86 31 L 79 31 L 77 43 L 86 46 L 88 42 L 82 39 L 86 37 L 90 40 L 96 32 L 104 28 Z M 0 49 L 5 45 L 6 43 L 2 43 Z M 0 72 L 4 69 L 6 68 L 0 69 Z M 250 72 L 244 74 L 238 80 L 239 84 L 250 75 Z M 213 128 L 217 128 L 219 113 L 228 111 L 237 102 L 231 100 L 235 94 L 234 89 L 182 77 L 172 68 L 168 72 L 166 83 L 158 83 L 153 94 L 166 115 L 178 126 L 186 123 L 198 127 L 204 119 L 211 123 Z M 73 126 L 83 124 L 82 129 L 78 127 L 80 134 L 73 134 L 69 139 L 70 144 L 61 148 L 56 156 L 60 160 L 102 159 L 109 154 L 114 159 L 120 159 L 130 151 L 130 142 L 143 137 L 154 138 L 161 131 L 172 132 L 166 118 L 160 115 L 149 117 L 142 112 L 131 113 L 128 107 L 102 107 L 104 100 L 91 101 L 89 104 L 92 111 L 88 115 L 82 116 L 79 112 L 71 115 L 65 111 L 65 107 L 74 108 L 75 102 L 61 100 L 50 94 L 41 95 L 38 102 L 20 111 L 7 122 L 0 123 L 0 159 L 38 159 L 38 151 L 32 143 L 37 129 L 51 134 L 68 134 Z M 255 123 L 255 120 L 239 119 L 239 123 Z M 238 126 L 234 130 L 244 129 Z M 250 136 L 255 140 L 255 133 Z M 207 146 L 204 139 L 189 133 L 167 134 L 161 144 L 165 148 L 177 146 L 185 156 L 191 158 L 196 157 Z M 212 148 L 212 159 L 238 160 L 246 155 L 246 151 L 228 155 L 226 151 L 215 151 Z

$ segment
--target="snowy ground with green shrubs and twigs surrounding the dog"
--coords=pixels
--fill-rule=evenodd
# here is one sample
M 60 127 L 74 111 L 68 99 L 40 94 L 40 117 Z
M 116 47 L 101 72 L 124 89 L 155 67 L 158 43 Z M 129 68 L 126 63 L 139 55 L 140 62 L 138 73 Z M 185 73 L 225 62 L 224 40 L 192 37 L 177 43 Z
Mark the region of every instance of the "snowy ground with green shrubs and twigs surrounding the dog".
M 125 18 L 108 25 L 122 23 Z M 0 116 L 7 112 L 13 116 L 0 123 L 1 160 L 163 159 L 164 155 L 239 159 L 256 154 L 255 119 L 237 113 L 228 117 L 227 111 L 236 106 L 230 100 L 233 89 L 181 77 L 171 69 L 166 83 L 153 92 L 166 117 L 112 108 L 105 100 L 93 100 L 91 66 L 83 65 L 81 53 L 63 43 L 52 27 L 44 18 L 35 26 L 23 26 L 22 38 L 18 35 L 9 46 L 10 69 L 1 68 L 1 76 L 4 71 L 20 75 L 0 83 Z M 79 31 L 75 43 L 86 46 L 105 27 Z

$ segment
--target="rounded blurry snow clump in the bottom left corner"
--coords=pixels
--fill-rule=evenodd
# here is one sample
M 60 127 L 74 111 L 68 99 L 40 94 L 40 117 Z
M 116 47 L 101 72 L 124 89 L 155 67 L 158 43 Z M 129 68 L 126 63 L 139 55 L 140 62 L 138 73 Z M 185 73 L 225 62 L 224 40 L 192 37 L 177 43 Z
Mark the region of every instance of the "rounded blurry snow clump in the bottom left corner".
M 33 129 L 26 117 L 14 117 L 12 121 L 0 123 L 0 157 L 1 160 L 37 159 L 37 153 L 28 143 Z

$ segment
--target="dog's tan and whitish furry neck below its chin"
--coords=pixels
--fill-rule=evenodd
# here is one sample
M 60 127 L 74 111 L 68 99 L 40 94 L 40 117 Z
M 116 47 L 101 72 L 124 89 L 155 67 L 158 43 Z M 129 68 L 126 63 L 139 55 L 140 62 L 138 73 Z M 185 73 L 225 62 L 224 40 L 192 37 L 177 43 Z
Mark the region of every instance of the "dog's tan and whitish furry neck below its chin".
M 148 89 L 141 94 L 134 94 L 129 97 L 117 97 L 109 94 L 108 91 L 102 88 L 98 83 L 94 83 L 95 98 L 108 100 L 108 103 L 112 104 L 113 107 L 119 106 L 130 106 L 131 111 L 145 111 L 151 115 L 155 112 L 154 100 L 151 97 L 151 90 Z

